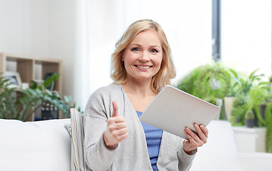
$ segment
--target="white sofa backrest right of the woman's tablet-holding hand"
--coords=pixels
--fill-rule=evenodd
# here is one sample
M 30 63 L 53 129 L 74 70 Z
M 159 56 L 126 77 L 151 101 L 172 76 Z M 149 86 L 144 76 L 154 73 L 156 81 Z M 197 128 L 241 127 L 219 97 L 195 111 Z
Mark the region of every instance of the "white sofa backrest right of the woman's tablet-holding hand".
M 190 171 L 241 171 L 232 125 L 212 120 L 207 143 L 197 149 Z

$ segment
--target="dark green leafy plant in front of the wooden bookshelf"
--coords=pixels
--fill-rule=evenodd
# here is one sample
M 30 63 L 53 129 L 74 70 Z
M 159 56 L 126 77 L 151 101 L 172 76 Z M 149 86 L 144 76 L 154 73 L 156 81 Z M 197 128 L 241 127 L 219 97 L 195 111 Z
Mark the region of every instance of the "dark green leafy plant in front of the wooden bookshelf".
M 13 95 L 15 88 L 9 88 L 9 84 L 7 84 L 9 80 L 0 77 L 0 118 L 26 121 L 40 108 L 43 102 L 51 103 L 64 115 L 70 117 L 70 108 L 75 108 L 75 103 L 73 106 L 69 104 L 72 98 L 64 96 L 64 100 L 62 100 L 57 91 L 51 92 L 47 89 L 59 76 L 60 74 L 51 76 L 41 86 L 38 86 L 36 81 L 31 81 L 30 88 L 16 91 L 19 95 Z

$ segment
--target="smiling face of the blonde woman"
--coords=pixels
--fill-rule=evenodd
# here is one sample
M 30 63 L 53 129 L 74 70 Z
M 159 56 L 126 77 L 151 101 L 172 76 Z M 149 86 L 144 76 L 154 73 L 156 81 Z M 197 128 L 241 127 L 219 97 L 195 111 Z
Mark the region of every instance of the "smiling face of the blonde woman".
M 163 60 L 163 48 L 156 31 L 149 29 L 138 33 L 125 48 L 122 60 L 130 79 L 148 80 L 158 73 Z

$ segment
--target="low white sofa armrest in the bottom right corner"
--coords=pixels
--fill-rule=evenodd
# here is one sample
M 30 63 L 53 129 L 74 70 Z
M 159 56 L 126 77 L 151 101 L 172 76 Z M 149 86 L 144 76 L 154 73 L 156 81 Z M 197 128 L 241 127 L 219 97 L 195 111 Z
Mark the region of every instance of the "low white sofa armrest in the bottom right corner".
M 266 152 L 239 152 L 241 170 L 243 171 L 270 171 L 272 153 Z

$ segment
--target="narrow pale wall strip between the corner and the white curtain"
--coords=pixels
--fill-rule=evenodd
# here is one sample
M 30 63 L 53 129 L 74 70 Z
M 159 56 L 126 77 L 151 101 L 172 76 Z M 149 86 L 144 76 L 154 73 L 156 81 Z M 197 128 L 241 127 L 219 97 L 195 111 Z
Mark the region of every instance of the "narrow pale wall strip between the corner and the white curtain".
M 75 0 L 48 1 L 48 57 L 62 60 L 62 94 L 74 99 Z

